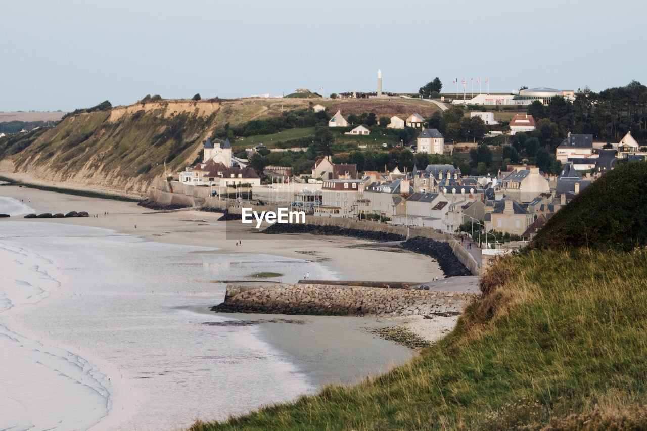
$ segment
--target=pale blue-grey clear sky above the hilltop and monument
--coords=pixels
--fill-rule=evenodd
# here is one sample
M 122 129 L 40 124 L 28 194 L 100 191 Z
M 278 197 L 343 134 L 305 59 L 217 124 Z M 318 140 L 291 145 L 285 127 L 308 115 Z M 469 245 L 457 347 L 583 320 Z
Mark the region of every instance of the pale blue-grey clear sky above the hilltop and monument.
M 2 0 L 0 111 L 104 100 L 647 83 L 647 3 Z M 462 86 L 459 89 L 462 93 Z

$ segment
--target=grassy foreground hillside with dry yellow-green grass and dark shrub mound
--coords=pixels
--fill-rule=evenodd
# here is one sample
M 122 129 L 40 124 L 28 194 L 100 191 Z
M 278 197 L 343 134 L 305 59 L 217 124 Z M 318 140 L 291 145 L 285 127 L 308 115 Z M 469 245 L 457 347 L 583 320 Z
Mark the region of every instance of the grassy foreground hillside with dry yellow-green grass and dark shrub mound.
M 616 195 L 617 218 L 598 213 L 611 217 L 600 239 L 618 238 L 620 219 L 644 217 L 644 207 L 628 218 L 625 208 L 631 182 L 642 175 L 645 184 L 646 173 L 647 163 L 628 164 L 587 188 Z M 597 204 L 582 193 L 560 214 L 595 214 L 605 197 Z M 456 329 L 406 366 L 191 430 L 645 429 L 646 240 L 571 247 L 564 226 L 545 231 L 564 241 L 498 261 Z

